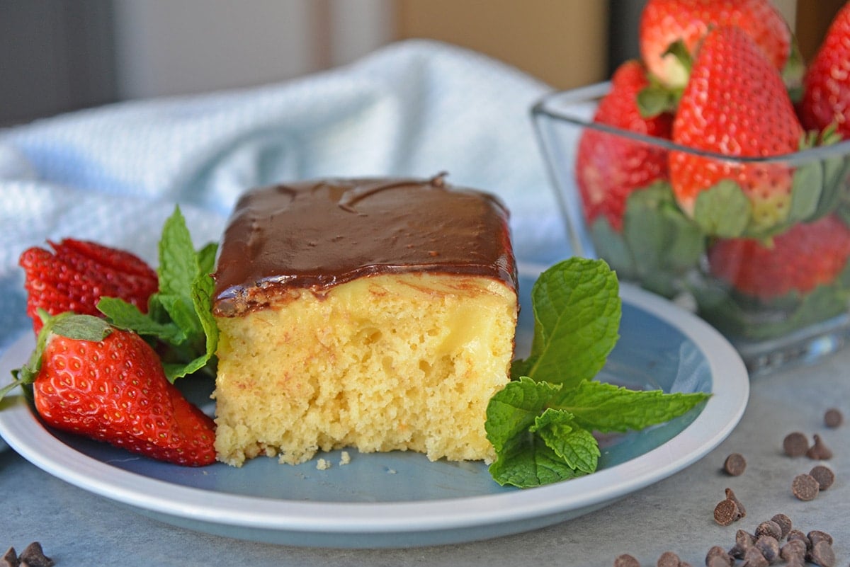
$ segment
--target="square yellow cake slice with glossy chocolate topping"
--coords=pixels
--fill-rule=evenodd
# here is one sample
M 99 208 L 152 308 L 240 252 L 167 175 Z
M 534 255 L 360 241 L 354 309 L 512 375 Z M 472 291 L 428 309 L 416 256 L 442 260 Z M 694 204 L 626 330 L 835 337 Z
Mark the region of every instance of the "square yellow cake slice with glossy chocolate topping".
M 494 457 L 485 410 L 507 384 L 518 312 L 494 197 L 442 176 L 256 189 L 214 278 L 219 460 Z

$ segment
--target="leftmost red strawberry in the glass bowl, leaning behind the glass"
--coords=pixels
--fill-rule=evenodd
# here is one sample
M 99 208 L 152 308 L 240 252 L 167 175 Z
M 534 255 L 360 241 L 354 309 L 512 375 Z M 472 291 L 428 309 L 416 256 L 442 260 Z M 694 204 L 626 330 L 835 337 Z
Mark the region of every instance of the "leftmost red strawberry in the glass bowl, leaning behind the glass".
M 646 136 L 670 138 L 672 115 L 644 118 L 638 110 L 638 93 L 648 84 L 643 65 L 638 61 L 621 65 L 593 121 Z M 655 180 L 666 179 L 666 150 L 587 128 L 579 142 L 575 176 L 587 221 L 593 222 L 604 215 L 611 227 L 619 231 L 629 194 Z

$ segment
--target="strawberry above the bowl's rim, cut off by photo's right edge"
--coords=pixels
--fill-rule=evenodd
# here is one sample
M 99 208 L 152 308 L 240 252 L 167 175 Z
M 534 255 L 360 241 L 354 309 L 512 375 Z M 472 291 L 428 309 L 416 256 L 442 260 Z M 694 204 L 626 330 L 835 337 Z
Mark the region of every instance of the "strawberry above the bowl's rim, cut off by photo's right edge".
M 800 119 L 808 130 L 836 123 L 850 137 L 850 3 L 836 14 L 803 78 Z

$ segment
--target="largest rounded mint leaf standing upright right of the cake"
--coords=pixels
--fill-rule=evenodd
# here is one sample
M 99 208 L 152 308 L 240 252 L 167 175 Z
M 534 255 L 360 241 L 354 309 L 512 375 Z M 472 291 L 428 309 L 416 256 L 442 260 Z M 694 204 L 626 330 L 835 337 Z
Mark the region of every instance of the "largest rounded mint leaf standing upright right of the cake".
M 543 272 L 531 290 L 531 353 L 513 364 L 513 377 L 575 385 L 595 376 L 619 338 L 619 291 L 601 260 L 570 258 Z

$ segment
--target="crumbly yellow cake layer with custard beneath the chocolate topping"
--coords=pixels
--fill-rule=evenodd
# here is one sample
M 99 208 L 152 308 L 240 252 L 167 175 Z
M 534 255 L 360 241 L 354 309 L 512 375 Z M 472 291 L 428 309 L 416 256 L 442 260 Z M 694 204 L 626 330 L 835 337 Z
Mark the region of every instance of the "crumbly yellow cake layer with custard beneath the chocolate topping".
M 378 275 L 217 317 L 216 450 L 302 463 L 317 451 L 484 459 L 487 402 L 507 383 L 517 299 L 504 283 Z

